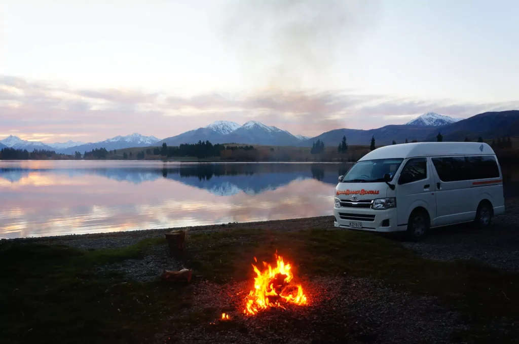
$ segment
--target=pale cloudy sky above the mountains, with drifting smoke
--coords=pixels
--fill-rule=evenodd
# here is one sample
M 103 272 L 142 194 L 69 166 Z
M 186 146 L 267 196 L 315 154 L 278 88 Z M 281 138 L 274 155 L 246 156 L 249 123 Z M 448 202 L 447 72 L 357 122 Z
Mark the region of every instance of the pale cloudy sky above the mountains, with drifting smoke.
M 0 139 L 519 109 L 515 0 L 3 0 Z

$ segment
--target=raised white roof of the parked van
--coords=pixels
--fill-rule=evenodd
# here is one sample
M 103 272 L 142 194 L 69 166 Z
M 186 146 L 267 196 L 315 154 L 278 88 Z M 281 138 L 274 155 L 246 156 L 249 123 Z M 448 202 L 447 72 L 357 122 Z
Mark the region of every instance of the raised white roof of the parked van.
M 486 143 L 479 142 L 417 142 L 389 145 L 372 150 L 359 161 L 388 159 L 388 158 L 413 158 L 439 155 L 488 155 L 495 154 L 494 150 Z

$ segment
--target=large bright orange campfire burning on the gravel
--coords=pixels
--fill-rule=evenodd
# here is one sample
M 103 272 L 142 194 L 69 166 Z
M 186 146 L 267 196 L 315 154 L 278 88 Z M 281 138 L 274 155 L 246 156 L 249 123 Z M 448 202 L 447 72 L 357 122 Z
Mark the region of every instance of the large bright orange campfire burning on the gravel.
M 284 308 L 283 304 L 306 305 L 306 296 L 301 285 L 292 283 L 294 276 L 291 265 L 283 262 L 283 257 L 275 254 L 276 266 L 263 262 L 265 270 L 262 272 L 253 264 L 254 289 L 247 296 L 247 306 L 243 310 L 244 314 L 256 314 L 268 307 Z M 256 257 L 254 257 L 257 263 Z

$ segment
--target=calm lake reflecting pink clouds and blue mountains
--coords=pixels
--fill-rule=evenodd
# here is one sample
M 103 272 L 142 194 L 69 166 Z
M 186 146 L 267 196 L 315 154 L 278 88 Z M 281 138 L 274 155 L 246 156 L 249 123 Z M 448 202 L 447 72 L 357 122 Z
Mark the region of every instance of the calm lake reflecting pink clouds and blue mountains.
M 0 161 L 0 238 L 333 214 L 348 163 Z M 506 197 L 519 171 L 502 167 Z

